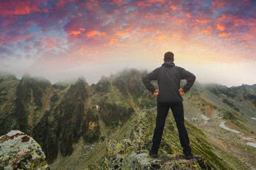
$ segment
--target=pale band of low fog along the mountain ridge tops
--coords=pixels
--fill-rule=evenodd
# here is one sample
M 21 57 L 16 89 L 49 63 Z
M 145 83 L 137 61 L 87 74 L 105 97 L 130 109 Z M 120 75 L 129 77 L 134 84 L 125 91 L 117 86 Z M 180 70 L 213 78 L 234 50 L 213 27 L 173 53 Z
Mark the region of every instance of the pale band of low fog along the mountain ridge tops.
M 183 64 L 174 61 L 174 63 L 196 75 L 196 81 L 201 84 L 221 84 L 225 86 L 240 86 L 242 84 L 256 84 L 255 72 L 256 64 Z M 21 79 L 23 74 L 30 74 L 31 77 L 44 77 L 51 84 L 57 82 L 75 81 L 78 77 L 85 77 L 88 84 L 97 84 L 102 76 L 110 77 L 111 74 L 116 74 L 124 69 L 138 69 L 153 71 L 156 67 L 160 67 L 163 62 L 159 60 L 157 63 L 142 61 L 116 61 L 99 64 L 88 64 L 83 67 L 65 68 L 46 68 L 38 67 L 33 69 L 24 69 L 20 67 L 2 70 L 1 72 L 9 72 L 15 74 L 18 79 Z M 32 68 L 32 67 L 31 67 Z

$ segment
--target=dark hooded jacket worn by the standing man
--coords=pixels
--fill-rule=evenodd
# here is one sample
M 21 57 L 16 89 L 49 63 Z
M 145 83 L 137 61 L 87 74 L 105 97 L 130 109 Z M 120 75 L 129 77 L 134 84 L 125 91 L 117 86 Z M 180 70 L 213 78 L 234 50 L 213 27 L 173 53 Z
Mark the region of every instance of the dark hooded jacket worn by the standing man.
M 191 72 L 186 71 L 186 69 L 175 66 L 171 60 L 166 60 L 161 67 L 143 77 L 142 81 L 146 89 L 154 93 L 156 89 L 151 84 L 151 80 L 157 80 L 159 86 L 158 102 L 176 102 L 183 101 L 178 92 L 181 79 L 186 79 L 186 84 L 182 88 L 186 93 L 193 86 L 196 77 Z

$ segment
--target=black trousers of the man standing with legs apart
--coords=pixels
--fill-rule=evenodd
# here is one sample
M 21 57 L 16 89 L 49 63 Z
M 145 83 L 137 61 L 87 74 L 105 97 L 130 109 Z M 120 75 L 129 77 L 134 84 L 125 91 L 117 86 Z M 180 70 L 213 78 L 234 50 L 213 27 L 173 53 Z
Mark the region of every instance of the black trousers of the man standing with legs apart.
M 184 111 L 182 101 L 171 103 L 157 103 L 157 116 L 156 116 L 156 128 L 154 129 L 154 136 L 152 139 L 151 152 L 157 154 L 161 137 L 163 135 L 164 123 L 168 114 L 169 108 L 174 115 L 176 125 L 178 128 L 178 137 L 183 147 L 183 154 L 191 154 L 191 147 L 189 147 L 188 132 L 184 125 Z

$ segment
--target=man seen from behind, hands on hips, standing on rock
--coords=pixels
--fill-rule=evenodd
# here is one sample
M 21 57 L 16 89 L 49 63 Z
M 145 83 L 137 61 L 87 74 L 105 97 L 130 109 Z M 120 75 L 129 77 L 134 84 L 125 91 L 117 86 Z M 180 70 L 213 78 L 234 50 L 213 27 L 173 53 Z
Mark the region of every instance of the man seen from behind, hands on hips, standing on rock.
M 186 79 L 186 84 L 182 89 L 180 89 L 181 79 Z M 154 88 L 151 80 L 157 80 L 159 89 Z M 156 128 L 154 129 L 153 143 L 149 151 L 151 157 L 157 157 L 163 135 L 164 123 L 169 108 L 171 108 L 178 128 L 178 137 L 183 147 L 185 159 L 193 158 L 191 147 L 189 146 L 188 132 L 184 125 L 183 98 L 181 96 L 191 89 L 195 80 L 196 77 L 191 72 L 175 66 L 173 52 L 166 52 L 164 54 L 164 64 L 142 79 L 146 89 L 157 96 Z

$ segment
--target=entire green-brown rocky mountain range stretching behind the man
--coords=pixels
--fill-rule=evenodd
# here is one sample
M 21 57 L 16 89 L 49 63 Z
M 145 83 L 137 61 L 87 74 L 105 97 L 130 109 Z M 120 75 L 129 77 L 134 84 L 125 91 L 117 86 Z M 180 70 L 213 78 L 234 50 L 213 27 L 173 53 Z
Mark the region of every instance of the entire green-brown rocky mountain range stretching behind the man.
M 51 84 L 28 74 L 16 79 L 0 73 L 0 135 L 10 130 L 30 135 L 51 169 L 85 169 L 100 161 L 107 140 L 128 138 L 141 113 L 150 116 L 142 121 L 149 128 L 144 140 L 151 140 L 156 97 L 142 84 L 145 74 L 129 69 L 89 85 L 84 77 Z M 196 82 L 183 99 L 194 154 L 213 169 L 256 168 L 256 84 L 228 88 Z M 171 111 L 163 138 L 174 154 L 182 153 Z

